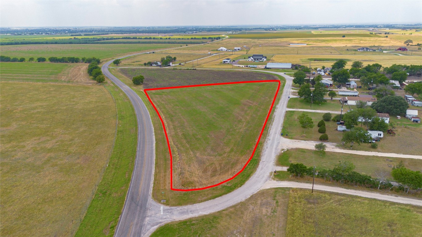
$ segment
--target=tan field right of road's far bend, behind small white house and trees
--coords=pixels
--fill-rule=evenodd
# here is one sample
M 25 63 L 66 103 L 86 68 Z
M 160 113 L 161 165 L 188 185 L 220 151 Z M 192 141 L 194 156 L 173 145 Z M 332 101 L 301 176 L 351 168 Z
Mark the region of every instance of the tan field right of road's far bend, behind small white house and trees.
M 134 57 L 128 57 L 122 60 L 121 67 L 127 66 L 143 66 L 144 62 L 160 62 L 162 57 L 170 55 L 176 57 L 173 64 L 189 62 L 195 59 L 200 59 L 209 56 L 208 54 L 170 54 L 170 53 L 154 53 L 154 54 L 141 54 Z

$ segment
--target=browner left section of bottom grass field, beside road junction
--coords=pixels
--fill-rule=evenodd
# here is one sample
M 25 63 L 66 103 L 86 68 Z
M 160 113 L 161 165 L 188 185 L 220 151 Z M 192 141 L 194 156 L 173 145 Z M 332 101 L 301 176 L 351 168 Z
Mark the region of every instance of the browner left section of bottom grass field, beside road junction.
M 217 213 L 165 224 L 151 237 L 285 236 L 289 189 L 259 191 Z

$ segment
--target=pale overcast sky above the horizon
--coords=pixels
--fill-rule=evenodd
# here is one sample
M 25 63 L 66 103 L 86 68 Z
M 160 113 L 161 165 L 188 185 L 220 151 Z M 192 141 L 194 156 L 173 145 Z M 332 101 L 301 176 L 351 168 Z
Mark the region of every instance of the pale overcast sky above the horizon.
M 0 1 L 0 27 L 421 22 L 421 0 Z

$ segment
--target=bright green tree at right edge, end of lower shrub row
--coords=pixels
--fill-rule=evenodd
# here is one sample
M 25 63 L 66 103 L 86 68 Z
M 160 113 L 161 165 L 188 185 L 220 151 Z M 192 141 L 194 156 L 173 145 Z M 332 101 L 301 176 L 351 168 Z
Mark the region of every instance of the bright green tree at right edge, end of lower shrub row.
M 391 176 L 404 187 L 406 193 L 408 193 L 410 189 L 422 188 L 422 174 L 420 171 L 413 171 L 406 167 L 400 167 L 392 170 Z

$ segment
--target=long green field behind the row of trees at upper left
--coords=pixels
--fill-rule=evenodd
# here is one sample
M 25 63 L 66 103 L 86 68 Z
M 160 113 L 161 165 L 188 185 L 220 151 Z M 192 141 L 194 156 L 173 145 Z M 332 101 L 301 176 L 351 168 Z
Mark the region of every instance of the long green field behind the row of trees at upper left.
M 97 57 L 101 60 L 131 52 L 171 48 L 174 44 L 35 44 L 1 46 L 1 54 L 9 57 Z

